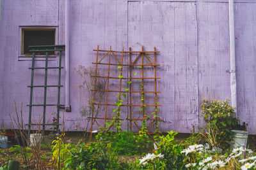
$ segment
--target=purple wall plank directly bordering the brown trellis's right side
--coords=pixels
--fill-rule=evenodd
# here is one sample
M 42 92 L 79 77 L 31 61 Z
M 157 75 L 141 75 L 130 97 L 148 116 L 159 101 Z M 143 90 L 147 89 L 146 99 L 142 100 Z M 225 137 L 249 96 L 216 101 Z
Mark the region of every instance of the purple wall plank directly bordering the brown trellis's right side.
M 159 74 L 163 76 L 159 82 L 158 88 L 166 96 L 159 96 L 159 103 L 163 104 L 159 115 L 163 119 L 160 124 L 160 131 L 175 130 L 175 5 L 174 3 L 164 2 L 161 13 L 163 15 L 163 45 L 157 48 L 161 49 L 161 57 L 158 60 L 162 68 L 158 69 Z M 158 59 L 158 58 L 157 58 Z M 166 110 L 165 108 L 168 108 Z

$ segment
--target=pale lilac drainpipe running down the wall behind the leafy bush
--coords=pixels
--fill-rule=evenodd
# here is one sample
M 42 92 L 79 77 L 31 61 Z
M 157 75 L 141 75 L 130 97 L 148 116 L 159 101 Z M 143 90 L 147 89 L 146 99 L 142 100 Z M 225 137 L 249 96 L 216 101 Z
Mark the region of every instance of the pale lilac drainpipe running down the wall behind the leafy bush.
M 234 0 L 228 0 L 229 13 L 229 41 L 230 41 L 230 89 L 231 104 L 237 106 L 236 95 L 236 53 L 235 53 L 235 31 L 234 31 Z

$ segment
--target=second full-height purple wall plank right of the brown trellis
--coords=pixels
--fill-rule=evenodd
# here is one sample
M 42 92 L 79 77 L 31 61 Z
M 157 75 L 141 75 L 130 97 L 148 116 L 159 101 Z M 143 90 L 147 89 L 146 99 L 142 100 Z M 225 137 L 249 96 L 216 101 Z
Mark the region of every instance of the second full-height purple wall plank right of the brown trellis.
M 188 113 L 186 87 L 186 8 L 184 3 L 175 3 L 175 131 L 186 131 Z

